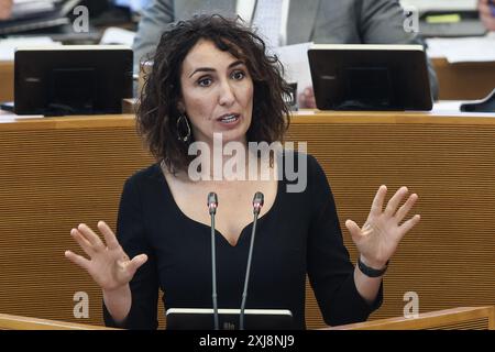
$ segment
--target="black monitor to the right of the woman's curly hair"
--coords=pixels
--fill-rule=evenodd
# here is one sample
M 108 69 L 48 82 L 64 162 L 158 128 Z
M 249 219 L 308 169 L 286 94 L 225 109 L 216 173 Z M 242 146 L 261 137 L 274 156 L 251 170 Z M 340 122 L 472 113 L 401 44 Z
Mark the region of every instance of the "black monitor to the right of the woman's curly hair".
M 431 110 L 421 45 L 317 44 L 308 51 L 320 110 Z

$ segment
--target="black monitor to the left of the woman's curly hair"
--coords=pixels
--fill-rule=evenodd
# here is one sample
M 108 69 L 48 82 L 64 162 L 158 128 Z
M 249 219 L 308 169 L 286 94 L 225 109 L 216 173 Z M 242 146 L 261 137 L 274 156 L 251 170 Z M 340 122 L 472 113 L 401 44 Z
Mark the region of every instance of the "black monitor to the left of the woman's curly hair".
M 132 98 L 132 50 L 120 45 L 24 47 L 14 58 L 16 114 L 121 113 Z

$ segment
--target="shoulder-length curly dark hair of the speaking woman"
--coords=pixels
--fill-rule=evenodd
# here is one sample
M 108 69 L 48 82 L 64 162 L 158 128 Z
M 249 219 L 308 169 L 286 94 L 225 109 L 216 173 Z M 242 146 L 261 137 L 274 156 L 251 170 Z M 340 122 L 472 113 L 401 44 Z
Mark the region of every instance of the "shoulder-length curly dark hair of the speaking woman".
M 177 101 L 182 97 L 183 62 L 199 40 L 211 41 L 220 51 L 242 59 L 249 69 L 254 97 L 248 142 L 283 142 L 289 124 L 290 110 L 284 96 L 290 95 L 290 87 L 283 78 L 284 67 L 240 18 L 202 14 L 179 21 L 160 40 L 136 111 L 138 130 L 151 153 L 174 173 L 187 169 L 193 158 L 188 144 L 177 139 Z

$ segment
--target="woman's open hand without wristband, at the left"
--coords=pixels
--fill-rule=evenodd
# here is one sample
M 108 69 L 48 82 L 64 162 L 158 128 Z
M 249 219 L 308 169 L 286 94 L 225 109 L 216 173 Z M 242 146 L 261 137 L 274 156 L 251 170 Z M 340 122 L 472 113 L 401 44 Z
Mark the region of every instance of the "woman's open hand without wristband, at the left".
M 88 226 L 81 223 L 70 231 L 70 235 L 89 260 L 70 251 L 66 251 L 65 256 L 85 268 L 103 292 L 113 292 L 129 284 L 138 268 L 146 263 L 147 255 L 140 254 L 130 260 L 107 223 L 99 221 L 98 229 L 107 245 Z

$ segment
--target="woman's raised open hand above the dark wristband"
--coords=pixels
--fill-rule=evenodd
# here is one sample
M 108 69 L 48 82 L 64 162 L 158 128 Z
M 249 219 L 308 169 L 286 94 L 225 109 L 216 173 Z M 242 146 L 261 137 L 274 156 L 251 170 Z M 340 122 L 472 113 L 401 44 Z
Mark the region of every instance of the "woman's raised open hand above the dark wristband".
M 383 204 L 387 187 L 381 186 L 373 199 L 367 220 L 362 228 L 354 221 L 345 221 L 345 227 L 358 246 L 361 260 L 374 268 L 382 268 L 397 250 L 403 237 L 419 222 L 419 215 L 400 224 L 418 199 L 416 194 L 409 196 L 398 208 L 403 198 L 408 194 L 407 187 L 400 187 L 388 201 L 385 210 Z M 397 209 L 398 208 L 398 209 Z

